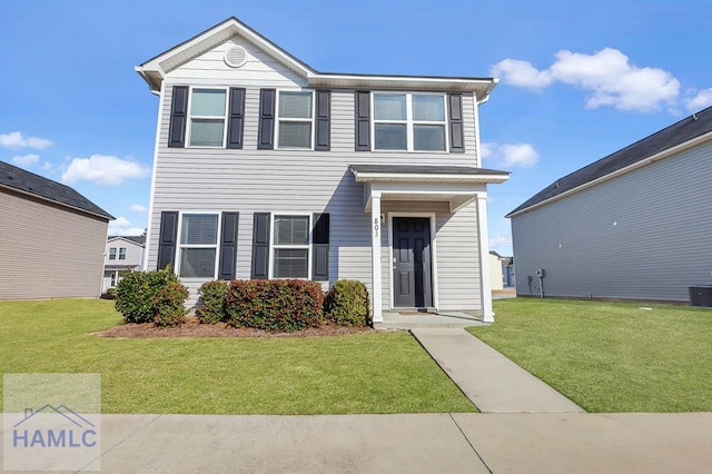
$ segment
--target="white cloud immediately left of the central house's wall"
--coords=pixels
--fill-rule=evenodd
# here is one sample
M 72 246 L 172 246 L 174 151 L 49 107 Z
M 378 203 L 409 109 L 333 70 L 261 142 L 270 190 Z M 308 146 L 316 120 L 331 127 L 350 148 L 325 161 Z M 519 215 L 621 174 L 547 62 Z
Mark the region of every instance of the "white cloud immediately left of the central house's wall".
M 113 186 L 127 179 L 145 178 L 149 174 L 149 168 L 130 159 L 92 155 L 89 158 L 72 158 L 67 170 L 62 172 L 62 180 L 69 184 L 86 180 Z

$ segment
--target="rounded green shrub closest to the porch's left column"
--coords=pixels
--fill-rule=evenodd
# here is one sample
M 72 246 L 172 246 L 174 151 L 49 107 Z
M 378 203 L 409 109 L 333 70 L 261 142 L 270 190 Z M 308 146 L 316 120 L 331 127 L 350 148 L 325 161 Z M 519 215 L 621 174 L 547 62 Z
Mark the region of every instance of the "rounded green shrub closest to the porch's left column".
M 368 290 L 354 279 L 339 279 L 326 295 L 324 318 L 339 326 L 368 326 Z

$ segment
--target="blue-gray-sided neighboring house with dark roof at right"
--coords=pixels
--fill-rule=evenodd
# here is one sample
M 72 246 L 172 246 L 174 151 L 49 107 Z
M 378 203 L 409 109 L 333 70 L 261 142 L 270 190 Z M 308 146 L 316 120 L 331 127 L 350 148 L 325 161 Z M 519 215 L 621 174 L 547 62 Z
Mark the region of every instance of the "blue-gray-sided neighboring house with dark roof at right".
M 518 295 L 686 302 L 712 271 L 712 108 L 514 209 Z

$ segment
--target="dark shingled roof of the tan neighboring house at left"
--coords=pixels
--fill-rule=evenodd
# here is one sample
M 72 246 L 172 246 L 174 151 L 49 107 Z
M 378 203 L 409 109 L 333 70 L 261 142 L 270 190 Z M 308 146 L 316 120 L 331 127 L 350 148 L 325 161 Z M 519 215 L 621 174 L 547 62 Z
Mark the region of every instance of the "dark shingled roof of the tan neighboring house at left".
M 0 161 L 0 188 L 13 189 L 107 220 L 113 219 L 113 216 L 69 186 L 26 171 L 4 161 Z

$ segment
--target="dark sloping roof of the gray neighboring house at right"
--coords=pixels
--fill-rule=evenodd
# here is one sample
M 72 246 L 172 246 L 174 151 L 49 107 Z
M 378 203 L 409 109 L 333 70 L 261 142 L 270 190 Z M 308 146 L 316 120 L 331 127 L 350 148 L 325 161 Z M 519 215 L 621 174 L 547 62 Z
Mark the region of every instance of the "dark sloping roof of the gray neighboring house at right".
M 542 206 L 551 199 L 583 190 L 602 180 L 668 158 L 709 139 L 712 139 L 712 107 L 693 113 L 650 137 L 555 180 L 507 214 L 506 217 L 513 217 L 532 207 Z

